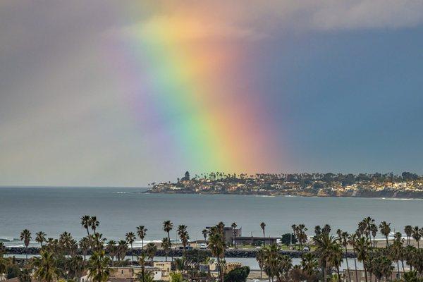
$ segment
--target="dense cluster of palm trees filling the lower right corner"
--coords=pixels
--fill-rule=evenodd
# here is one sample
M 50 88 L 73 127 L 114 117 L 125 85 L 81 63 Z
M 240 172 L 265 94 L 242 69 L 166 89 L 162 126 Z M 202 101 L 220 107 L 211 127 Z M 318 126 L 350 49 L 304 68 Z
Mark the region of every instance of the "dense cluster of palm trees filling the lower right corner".
M 307 228 L 302 224 L 293 225 L 292 228 L 302 250 L 307 242 Z M 377 247 L 375 237 L 378 232 L 386 238 L 384 247 Z M 279 282 L 328 281 L 329 275 L 335 273 L 332 279 L 341 282 L 341 263 L 350 247 L 353 251 L 354 269 L 350 269 L 348 260 L 345 259 L 345 278 L 348 282 L 359 281 L 357 261 L 363 265 L 366 282 L 390 281 L 395 269 L 394 264 L 398 277 L 401 269 L 401 272 L 405 273 L 404 264 L 407 264 L 410 271 L 404 276 L 405 281 L 423 281 L 423 249 L 420 249 L 418 244 L 422 238 L 422 228 L 405 226 L 404 232 L 406 240 L 400 232 L 396 232 L 390 243 L 388 237 L 391 234 L 391 223 L 382 221 L 376 226 L 374 219 L 368 216 L 358 223 L 357 231 L 351 234 L 338 229 L 335 236 L 331 235 L 331 226 L 316 226 L 314 236 L 310 238 L 314 250 L 302 253 L 300 265 L 293 266 L 289 257 L 281 255 L 281 250 L 276 245 L 264 247 L 257 253 L 256 259 L 260 269 L 269 276 L 269 281 L 274 281 L 275 277 Z M 417 247 L 412 246 L 410 238 L 417 241 Z

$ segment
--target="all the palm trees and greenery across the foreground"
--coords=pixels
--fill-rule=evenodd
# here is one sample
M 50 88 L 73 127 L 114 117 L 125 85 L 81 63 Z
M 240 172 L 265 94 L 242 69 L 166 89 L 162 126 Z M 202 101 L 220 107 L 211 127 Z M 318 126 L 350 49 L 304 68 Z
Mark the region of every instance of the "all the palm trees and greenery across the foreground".
M 32 269 L 33 276 L 39 281 L 78 281 L 86 271 L 92 281 L 106 282 L 111 275 L 112 266 L 123 266 L 128 264 L 139 264 L 142 268 L 137 280 L 140 282 L 151 282 L 153 275 L 145 266 L 151 266 L 157 252 L 157 245 L 148 243 L 144 245 L 147 235 L 145 226 L 138 226 L 135 232 L 125 234 L 125 240 L 106 240 L 102 233 L 99 233 L 99 221 L 95 216 L 82 216 L 81 226 L 87 232 L 84 238 L 78 242 L 71 233 L 63 232 L 59 238 L 47 238 L 46 233 L 40 231 L 35 233 L 34 239 L 40 245 L 39 257 L 26 259 L 25 262 L 17 262 L 16 259 L 4 257 L 5 247 L 0 243 L 0 274 L 6 274 L 8 278 L 18 277 L 20 282 L 30 282 Z M 225 225 L 220 222 L 209 229 L 202 231 L 204 239 L 207 239 L 207 252 L 200 250 L 188 250 L 190 236 L 188 227 L 180 225 L 176 229 L 180 243 L 183 246 L 183 257 L 172 257 L 172 244 L 170 233 L 174 230 L 171 221 L 164 221 L 164 238 L 159 247 L 166 254 L 166 261 L 172 262 L 173 272 L 171 279 L 176 281 L 214 281 L 220 282 L 242 282 L 245 281 L 250 270 L 238 269 L 226 273 L 225 251 L 231 245 L 226 245 L 224 236 Z M 236 228 L 236 223 L 231 227 Z M 263 237 L 265 237 L 265 223 L 260 223 Z M 257 252 L 257 262 L 261 274 L 266 274 L 269 281 L 339 281 L 341 282 L 341 263 L 345 261 L 346 272 L 344 281 L 358 282 L 357 262 L 362 263 L 365 281 L 391 281 L 393 271 L 405 273 L 402 280 L 398 281 L 423 281 L 423 250 L 419 247 L 419 241 L 423 236 L 423 228 L 418 226 L 405 226 L 403 238 L 402 233 L 397 232 L 393 240 L 389 240 L 391 224 L 382 221 L 379 225 L 374 219 L 367 217 L 358 223 L 357 231 L 347 233 L 345 231 L 332 231 L 331 226 L 315 226 L 314 235 L 309 238 L 307 228 L 303 224 L 293 225 L 293 233 L 290 241 L 300 251 L 305 246 L 311 246 L 312 251 L 302 252 L 299 265 L 293 265 L 292 259 L 281 252 L 281 245 L 263 245 Z M 376 235 L 381 233 L 384 236 L 384 247 L 376 247 Z M 286 236 L 283 236 L 286 238 Z M 25 247 L 29 247 L 32 240 L 32 233 L 25 229 L 20 234 Z M 142 241 L 142 251 L 136 258 L 133 252 L 133 243 L 137 238 Z M 233 238 L 232 238 L 233 239 Z M 232 242 L 234 240 L 231 240 Z M 290 244 L 284 242 L 283 243 Z M 412 246 L 417 243 L 417 247 Z M 232 246 L 233 247 L 233 246 Z M 354 263 L 350 265 L 344 259 L 345 253 L 352 250 Z M 125 259 L 127 254 L 130 259 Z M 90 257 L 87 257 L 90 255 Z M 168 255 L 170 257 L 168 258 Z M 200 271 L 200 264 L 210 264 L 216 259 L 217 278 L 210 272 Z M 396 267 L 394 267 L 396 266 Z M 355 276 L 351 277 L 351 271 Z M 398 275 L 399 277 L 399 275 Z

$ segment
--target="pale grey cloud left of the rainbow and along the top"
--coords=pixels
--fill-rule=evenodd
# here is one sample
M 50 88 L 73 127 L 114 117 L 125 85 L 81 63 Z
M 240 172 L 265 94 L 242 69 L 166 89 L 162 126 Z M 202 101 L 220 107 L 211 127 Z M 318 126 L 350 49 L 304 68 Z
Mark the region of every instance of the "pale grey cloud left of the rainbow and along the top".
M 187 39 L 257 41 L 423 22 L 412 0 L 157 2 L 126 17 L 120 1 L 0 1 L 0 185 L 140 185 L 183 167 L 146 147 L 128 116 L 103 53 L 111 31 L 186 17 L 200 26 Z

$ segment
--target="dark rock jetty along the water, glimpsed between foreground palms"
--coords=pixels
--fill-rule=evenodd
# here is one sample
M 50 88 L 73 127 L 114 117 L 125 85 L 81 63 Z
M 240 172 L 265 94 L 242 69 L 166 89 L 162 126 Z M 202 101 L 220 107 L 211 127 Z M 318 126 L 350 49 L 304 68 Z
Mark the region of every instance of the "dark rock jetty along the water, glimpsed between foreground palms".
M 207 252 L 207 256 L 212 257 L 212 254 L 209 250 L 198 250 L 199 252 Z M 258 250 L 226 250 L 225 251 L 225 257 L 239 257 L 239 258 L 253 258 L 256 257 Z M 81 255 L 80 250 L 78 250 L 78 253 Z M 8 255 L 39 255 L 39 247 L 28 247 L 27 250 L 25 247 L 6 247 L 6 254 Z M 141 250 L 140 249 L 134 249 L 133 254 L 128 250 L 126 255 L 140 255 Z M 283 250 L 281 251 L 282 255 L 288 255 L 292 258 L 298 258 L 302 257 L 303 252 L 297 251 L 297 250 Z M 90 255 L 90 252 L 87 254 Z M 173 257 L 181 257 L 183 255 L 183 250 L 172 250 L 171 253 L 168 254 L 168 256 L 173 255 Z M 157 250 L 156 252 L 157 257 L 165 257 L 166 254 L 164 250 Z M 353 258 L 354 254 L 352 252 L 346 252 L 344 254 L 344 257 Z

